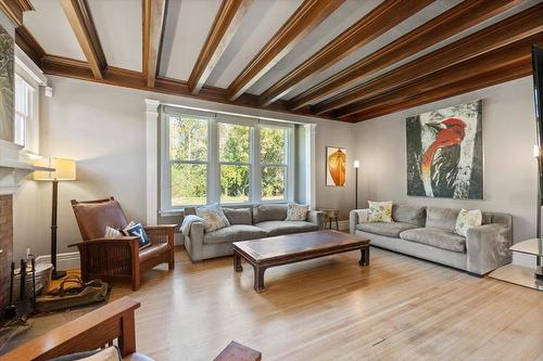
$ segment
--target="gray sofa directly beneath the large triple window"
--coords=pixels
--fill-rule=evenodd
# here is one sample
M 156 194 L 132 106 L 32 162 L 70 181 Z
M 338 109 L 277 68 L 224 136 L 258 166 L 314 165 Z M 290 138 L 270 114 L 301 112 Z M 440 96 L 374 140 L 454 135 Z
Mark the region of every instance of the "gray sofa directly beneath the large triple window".
M 232 242 L 312 232 L 325 227 L 325 215 L 317 210 L 310 210 L 305 221 L 286 221 L 287 205 L 282 204 L 223 207 L 223 210 L 230 227 L 205 232 L 202 222 L 190 224 L 189 235 L 185 236 L 185 248 L 192 261 L 231 255 Z M 195 208 L 185 208 L 185 215 L 195 215 Z

